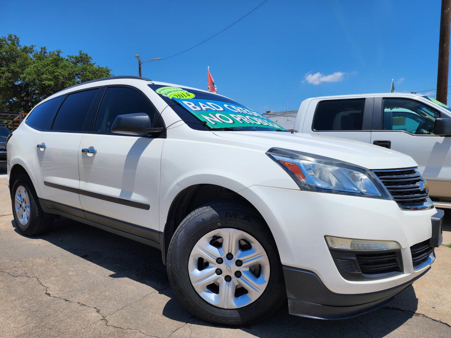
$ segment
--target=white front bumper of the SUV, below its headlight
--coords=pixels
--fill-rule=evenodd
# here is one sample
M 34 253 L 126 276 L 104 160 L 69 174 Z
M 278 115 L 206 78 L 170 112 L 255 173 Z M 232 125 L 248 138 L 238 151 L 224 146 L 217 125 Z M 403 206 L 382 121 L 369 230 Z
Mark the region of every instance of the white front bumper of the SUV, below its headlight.
M 239 193 L 251 201 L 267 221 L 282 265 L 313 273 L 334 294 L 354 297 L 396 290 L 385 297 L 352 306 L 388 301 L 432 263 L 430 260 L 421 267 L 414 267 L 410 247 L 433 237 L 431 217 L 437 212 L 435 209 L 401 210 L 391 200 L 263 186 L 248 187 Z M 401 246 L 402 269 L 382 279 L 345 279 L 332 259 L 324 236 L 396 241 Z M 287 286 L 287 293 L 290 292 Z

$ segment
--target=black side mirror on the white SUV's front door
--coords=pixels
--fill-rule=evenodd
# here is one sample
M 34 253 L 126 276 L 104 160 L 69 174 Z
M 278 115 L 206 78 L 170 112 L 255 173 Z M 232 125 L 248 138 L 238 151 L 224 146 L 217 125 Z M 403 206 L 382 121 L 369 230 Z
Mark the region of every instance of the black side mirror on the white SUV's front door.
M 136 113 L 118 115 L 110 130 L 116 134 L 148 135 L 160 133 L 164 128 L 152 128 L 149 115 Z

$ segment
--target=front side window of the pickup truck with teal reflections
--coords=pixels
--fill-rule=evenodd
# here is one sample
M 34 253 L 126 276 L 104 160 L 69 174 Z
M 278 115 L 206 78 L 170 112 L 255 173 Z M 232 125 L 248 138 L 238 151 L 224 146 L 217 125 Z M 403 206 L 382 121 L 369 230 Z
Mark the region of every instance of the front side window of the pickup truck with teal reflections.
M 440 112 L 410 99 L 383 100 L 383 130 L 404 131 L 414 135 L 433 135 Z

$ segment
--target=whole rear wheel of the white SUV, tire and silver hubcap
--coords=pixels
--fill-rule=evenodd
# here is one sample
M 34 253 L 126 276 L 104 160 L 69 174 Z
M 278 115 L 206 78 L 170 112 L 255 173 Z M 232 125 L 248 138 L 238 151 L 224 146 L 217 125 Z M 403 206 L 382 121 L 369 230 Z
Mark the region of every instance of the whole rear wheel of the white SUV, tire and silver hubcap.
M 33 236 L 50 228 L 53 218 L 41 209 L 36 191 L 28 175 L 20 175 L 11 194 L 14 221 L 24 235 Z

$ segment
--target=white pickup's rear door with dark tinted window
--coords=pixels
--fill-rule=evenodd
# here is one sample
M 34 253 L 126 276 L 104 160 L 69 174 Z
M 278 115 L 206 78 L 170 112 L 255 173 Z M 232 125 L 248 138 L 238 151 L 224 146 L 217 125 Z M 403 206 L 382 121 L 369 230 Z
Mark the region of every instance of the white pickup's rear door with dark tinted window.
M 312 100 L 302 132 L 370 143 L 373 101 L 373 97 Z

